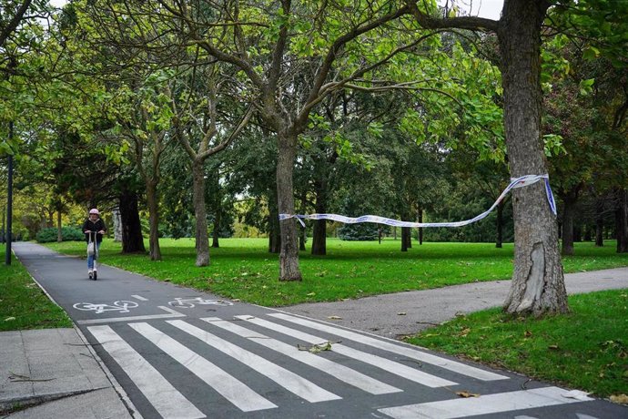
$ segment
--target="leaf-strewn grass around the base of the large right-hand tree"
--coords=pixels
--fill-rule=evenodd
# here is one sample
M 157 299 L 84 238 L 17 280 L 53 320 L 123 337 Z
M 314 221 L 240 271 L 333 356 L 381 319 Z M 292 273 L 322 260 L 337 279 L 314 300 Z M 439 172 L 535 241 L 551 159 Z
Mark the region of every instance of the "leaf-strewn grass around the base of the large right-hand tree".
M 628 290 L 572 295 L 569 305 L 540 320 L 475 312 L 406 341 L 601 397 L 628 394 Z

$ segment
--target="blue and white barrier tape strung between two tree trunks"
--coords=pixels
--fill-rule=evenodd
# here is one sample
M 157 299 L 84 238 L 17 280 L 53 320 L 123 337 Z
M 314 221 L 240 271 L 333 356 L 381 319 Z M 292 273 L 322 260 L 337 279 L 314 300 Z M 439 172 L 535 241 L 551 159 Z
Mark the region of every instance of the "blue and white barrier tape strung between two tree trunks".
M 525 186 L 530 186 L 540 180 L 545 182 L 545 193 L 547 195 L 547 201 L 550 205 L 550 209 L 552 213 L 556 215 L 556 202 L 554 201 L 554 197 L 552 194 L 552 189 L 550 188 L 550 177 L 548 175 L 526 175 L 521 178 L 511 179 L 510 185 L 503 189 L 499 198 L 491 205 L 491 208 L 482 212 L 480 215 L 472 218 L 471 220 L 464 221 L 455 221 L 455 222 L 411 222 L 411 221 L 400 221 L 387 219 L 384 217 L 380 217 L 377 215 L 363 215 L 357 218 L 345 217 L 344 215 L 339 214 L 309 214 L 309 215 L 299 215 L 299 214 L 279 214 L 279 220 L 289 220 L 289 219 L 297 219 L 303 227 L 305 227 L 305 223 L 303 220 L 333 220 L 339 221 L 345 224 L 356 224 L 359 222 L 374 222 L 377 224 L 386 224 L 388 226 L 393 227 L 410 227 L 410 228 L 420 228 L 420 227 L 462 227 L 469 225 L 473 222 L 482 220 L 488 216 L 492 210 L 495 209 L 499 205 L 502 199 L 514 188 L 523 188 Z

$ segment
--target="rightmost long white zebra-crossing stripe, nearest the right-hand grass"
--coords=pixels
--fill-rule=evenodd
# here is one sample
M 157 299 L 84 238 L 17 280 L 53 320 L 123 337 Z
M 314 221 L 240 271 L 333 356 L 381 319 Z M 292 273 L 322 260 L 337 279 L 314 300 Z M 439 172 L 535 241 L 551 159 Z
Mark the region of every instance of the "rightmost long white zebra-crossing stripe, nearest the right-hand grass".
M 500 375 L 497 373 L 484 371 L 484 370 L 481 370 L 480 368 L 476 368 L 471 365 L 467 365 L 464 363 L 457 363 L 455 361 L 441 358 L 440 356 L 432 355 L 430 353 L 424 353 L 418 349 L 406 347 L 398 343 L 387 342 L 387 341 L 384 341 L 383 339 L 371 338 L 370 336 L 366 336 L 364 334 L 350 332 L 348 330 L 329 326 L 324 323 L 310 322 L 309 320 L 302 319 L 300 317 L 294 317 L 294 316 L 290 316 L 288 314 L 279 313 L 279 312 L 269 313 L 268 315 L 272 317 L 276 317 L 281 320 L 297 323 L 302 326 L 316 329 L 321 332 L 328 332 L 331 334 L 335 334 L 337 336 L 342 336 L 345 339 L 349 339 L 355 342 L 360 342 L 369 346 L 373 346 L 375 348 L 382 349 L 384 351 L 389 351 L 391 353 L 397 353 L 403 356 L 407 356 L 409 358 L 419 360 L 420 362 L 423 362 L 423 363 L 430 363 L 433 365 L 437 365 L 445 370 L 450 370 L 450 371 L 453 371 L 454 373 L 459 373 L 462 375 L 467 375 L 473 378 L 477 378 L 478 380 L 492 381 L 492 380 L 507 380 L 508 379 L 508 377 L 506 377 L 505 375 Z

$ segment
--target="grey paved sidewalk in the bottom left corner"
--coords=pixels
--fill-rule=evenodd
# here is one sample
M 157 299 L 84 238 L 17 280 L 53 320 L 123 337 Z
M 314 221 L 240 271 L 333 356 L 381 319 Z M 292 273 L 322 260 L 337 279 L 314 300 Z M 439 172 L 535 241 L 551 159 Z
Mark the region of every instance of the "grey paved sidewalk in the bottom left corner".
M 0 417 L 130 418 L 118 391 L 76 329 L 0 333 Z

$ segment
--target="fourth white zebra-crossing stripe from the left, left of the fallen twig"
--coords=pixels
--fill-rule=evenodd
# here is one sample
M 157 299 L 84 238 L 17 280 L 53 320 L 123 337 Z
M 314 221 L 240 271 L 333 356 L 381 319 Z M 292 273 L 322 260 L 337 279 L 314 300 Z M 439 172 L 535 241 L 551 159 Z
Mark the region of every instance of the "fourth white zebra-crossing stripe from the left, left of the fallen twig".
M 358 373 L 357 371 L 352 370 L 349 367 L 340 365 L 339 363 L 334 363 L 313 353 L 309 353 L 307 351 L 299 351 L 296 346 L 292 346 L 284 342 L 279 342 L 276 339 L 271 339 L 268 336 L 251 331 L 246 327 L 238 326 L 237 324 L 224 321 L 222 319 L 219 319 L 218 317 L 208 317 L 201 320 L 209 322 L 228 332 L 233 332 L 238 334 L 239 336 L 254 340 L 254 342 L 258 342 L 262 346 L 266 346 L 273 351 L 277 351 L 286 356 L 289 356 L 290 358 L 295 359 L 300 363 L 305 363 L 324 373 L 329 373 L 329 375 L 338 378 L 340 381 L 349 383 L 355 387 L 360 388 L 361 390 L 364 390 L 367 393 L 386 394 L 402 392 L 402 390 L 397 387 L 393 387 L 392 385 L 389 385 L 387 383 L 382 383 L 379 380 L 371 378 L 368 375 Z

